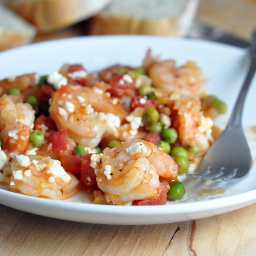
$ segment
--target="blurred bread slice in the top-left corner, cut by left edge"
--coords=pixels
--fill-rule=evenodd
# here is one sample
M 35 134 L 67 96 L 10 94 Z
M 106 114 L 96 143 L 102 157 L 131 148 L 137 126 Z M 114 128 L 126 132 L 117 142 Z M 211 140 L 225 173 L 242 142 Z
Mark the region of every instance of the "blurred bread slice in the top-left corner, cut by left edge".
M 27 21 L 0 5 L 0 51 L 27 44 L 35 34 L 35 28 Z

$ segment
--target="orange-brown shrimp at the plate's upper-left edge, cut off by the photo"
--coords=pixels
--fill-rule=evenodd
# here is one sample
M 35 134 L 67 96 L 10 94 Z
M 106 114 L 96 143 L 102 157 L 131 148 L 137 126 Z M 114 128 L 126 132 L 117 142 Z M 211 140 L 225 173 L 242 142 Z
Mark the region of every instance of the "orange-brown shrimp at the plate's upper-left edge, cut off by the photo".
M 39 76 L 36 73 L 6 78 L 0 81 L 0 96 L 7 93 L 11 88 L 19 88 L 23 92 L 27 88 L 38 84 L 38 81 Z

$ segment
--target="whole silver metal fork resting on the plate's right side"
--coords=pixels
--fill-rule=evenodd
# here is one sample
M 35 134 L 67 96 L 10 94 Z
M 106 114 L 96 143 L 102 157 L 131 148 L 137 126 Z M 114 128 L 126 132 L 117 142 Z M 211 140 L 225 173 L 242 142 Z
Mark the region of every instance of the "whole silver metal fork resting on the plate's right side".
M 249 85 L 256 71 L 256 29 L 252 33 L 249 55 L 249 71 L 226 128 L 209 148 L 197 168 L 197 173 L 186 174 L 186 177 L 238 182 L 248 174 L 252 157 L 243 133 L 242 114 Z

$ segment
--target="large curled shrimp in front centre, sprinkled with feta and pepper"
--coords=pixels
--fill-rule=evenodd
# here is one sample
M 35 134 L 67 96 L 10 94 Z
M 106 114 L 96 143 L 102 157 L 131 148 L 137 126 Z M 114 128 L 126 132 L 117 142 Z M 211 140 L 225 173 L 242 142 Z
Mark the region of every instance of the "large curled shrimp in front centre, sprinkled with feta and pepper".
M 141 139 L 91 155 L 91 166 L 106 200 L 119 205 L 154 195 L 159 176 L 176 180 L 178 169 L 170 155 Z

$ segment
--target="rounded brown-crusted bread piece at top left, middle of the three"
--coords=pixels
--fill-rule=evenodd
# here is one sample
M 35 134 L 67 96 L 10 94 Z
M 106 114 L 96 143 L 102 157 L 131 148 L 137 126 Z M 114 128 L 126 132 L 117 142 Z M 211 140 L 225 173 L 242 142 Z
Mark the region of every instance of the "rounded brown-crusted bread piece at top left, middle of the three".
M 109 0 L 8 0 L 40 33 L 68 27 L 101 11 Z

